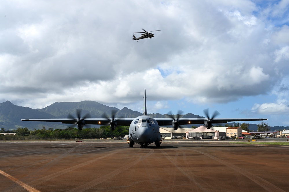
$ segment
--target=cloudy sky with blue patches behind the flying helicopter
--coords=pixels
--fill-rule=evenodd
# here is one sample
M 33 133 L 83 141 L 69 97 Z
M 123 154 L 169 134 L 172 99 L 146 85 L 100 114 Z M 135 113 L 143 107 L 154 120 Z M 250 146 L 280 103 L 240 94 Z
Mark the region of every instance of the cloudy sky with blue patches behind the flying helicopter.
M 2 0 L 0 102 L 142 112 L 146 89 L 148 113 L 289 126 L 288 13 L 288 0 Z M 161 31 L 132 40 L 142 28 Z

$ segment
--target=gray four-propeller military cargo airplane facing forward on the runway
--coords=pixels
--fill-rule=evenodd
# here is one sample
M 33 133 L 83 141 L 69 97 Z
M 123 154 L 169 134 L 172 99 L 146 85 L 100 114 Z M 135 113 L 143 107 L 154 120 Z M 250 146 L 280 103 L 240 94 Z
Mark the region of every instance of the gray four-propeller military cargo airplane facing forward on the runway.
M 21 121 L 45 121 L 45 122 L 61 122 L 65 124 L 76 124 L 78 129 L 82 129 L 84 125 L 110 125 L 112 131 L 116 126 L 130 126 L 127 143 L 129 147 L 133 147 L 134 144 L 141 145 L 141 148 L 147 147 L 149 144 L 154 143 L 157 147 L 160 147 L 162 142 L 160 134 L 160 126 L 170 126 L 177 130 L 180 125 L 190 124 L 204 124 L 207 129 L 211 129 L 213 123 L 228 123 L 231 121 L 264 121 L 268 119 L 254 119 L 254 118 L 215 118 L 219 112 L 215 112 L 210 118 L 208 110 L 204 110 L 207 118 L 179 118 L 180 115 L 174 117 L 170 115 L 170 118 L 152 118 L 147 115 L 146 109 L 146 89 L 143 96 L 143 115 L 136 118 L 62 118 L 62 119 L 21 119 Z

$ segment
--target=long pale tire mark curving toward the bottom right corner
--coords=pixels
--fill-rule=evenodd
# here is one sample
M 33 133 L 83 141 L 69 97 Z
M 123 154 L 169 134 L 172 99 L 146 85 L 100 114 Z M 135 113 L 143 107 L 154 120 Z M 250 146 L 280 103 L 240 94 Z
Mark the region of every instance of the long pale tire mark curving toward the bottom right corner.
M 198 151 L 198 150 L 194 150 L 194 149 L 188 149 L 188 150 L 192 150 L 192 151 L 195 151 L 195 152 L 198 152 L 198 153 L 201 153 L 203 155 L 206 155 L 207 157 L 210 157 L 211 159 L 214 159 L 215 161 L 218 161 L 219 163 L 222 163 L 223 165 L 226 165 L 227 167 L 231 168 L 232 170 L 244 175 L 245 177 L 247 177 L 248 179 L 252 180 L 253 182 L 255 182 L 257 185 L 259 185 L 260 187 L 262 187 L 264 190 L 266 191 L 282 191 L 282 192 L 285 192 L 283 189 L 280 189 L 279 187 L 277 187 L 276 185 L 268 182 L 267 180 L 257 176 L 257 175 L 254 175 L 252 173 L 245 173 L 243 172 L 239 167 L 237 167 L 236 165 L 233 165 L 231 163 L 228 163 L 222 159 L 219 159 L 213 155 L 209 155 L 207 153 L 204 153 L 202 151 Z

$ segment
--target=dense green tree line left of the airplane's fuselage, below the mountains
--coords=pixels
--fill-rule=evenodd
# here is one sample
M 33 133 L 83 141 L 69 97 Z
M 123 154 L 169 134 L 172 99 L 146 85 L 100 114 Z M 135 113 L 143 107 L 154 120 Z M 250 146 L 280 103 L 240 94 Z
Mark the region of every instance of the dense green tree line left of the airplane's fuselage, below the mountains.
M 110 138 L 128 135 L 129 126 L 118 126 L 115 131 L 111 131 L 110 126 L 102 126 L 100 128 L 87 128 L 79 130 L 75 127 L 66 129 L 42 129 L 29 130 L 27 127 L 18 127 L 12 131 L 0 129 L 0 140 L 36 140 L 36 139 L 97 139 Z M 15 135 L 3 135 L 1 133 L 16 133 Z

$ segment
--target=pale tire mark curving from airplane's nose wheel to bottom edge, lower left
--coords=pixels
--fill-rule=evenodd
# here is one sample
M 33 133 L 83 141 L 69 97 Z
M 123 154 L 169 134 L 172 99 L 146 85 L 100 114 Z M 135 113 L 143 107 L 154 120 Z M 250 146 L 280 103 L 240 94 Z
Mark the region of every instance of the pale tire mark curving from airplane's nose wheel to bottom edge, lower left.
M 117 153 L 117 152 L 119 152 L 119 151 L 116 151 L 115 153 Z M 106 175 L 103 175 L 101 178 L 96 178 L 96 179 L 94 179 L 94 180 L 92 180 L 90 182 L 87 182 L 87 183 L 85 183 L 83 185 L 80 185 L 80 186 L 78 186 L 78 187 L 76 187 L 74 189 L 71 189 L 69 191 L 85 191 L 85 190 L 87 190 L 87 189 L 89 189 L 89 188 L 91 188 L 91 187 L 93 187 L 95 185 L 98 185 L 98 184 L 100 184 L 100 183 L 102 183 L 102 182 L 104 182 L 106 180 L 109 180 L 109 179 L 113 178 L 114 176 L 124 172 L 125 170 L 127 170 L 130 167 L 136 165 L 137 163 L 139 163 L 140 161 L 142 161 L 146 157 L 152 155 L 153 153 L 154 153 L 154 150 L 150 149 L 149 153 L 139 157 L 139 159 L 134 160 L 132 163 L 128 163 L 127 165 L 124 165 L 123 167 L 120 167 L 119 169 L 116 169 L 116 170 L 114 170 L 114 171 L 112 171 L 112 172 L 110 172 L 110 173 L 108 173 Z

